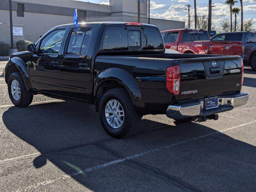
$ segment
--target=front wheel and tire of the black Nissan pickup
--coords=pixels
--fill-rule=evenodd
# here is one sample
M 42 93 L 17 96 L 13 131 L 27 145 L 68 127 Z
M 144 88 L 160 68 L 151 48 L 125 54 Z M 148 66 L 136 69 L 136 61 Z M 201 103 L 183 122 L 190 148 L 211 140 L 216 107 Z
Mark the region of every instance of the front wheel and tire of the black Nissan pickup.
M 20 72 L 13 72 L 8 79 L 8 94 L 12 103 L 17 107 L 31 104 L 33 95 L 27 91 Z

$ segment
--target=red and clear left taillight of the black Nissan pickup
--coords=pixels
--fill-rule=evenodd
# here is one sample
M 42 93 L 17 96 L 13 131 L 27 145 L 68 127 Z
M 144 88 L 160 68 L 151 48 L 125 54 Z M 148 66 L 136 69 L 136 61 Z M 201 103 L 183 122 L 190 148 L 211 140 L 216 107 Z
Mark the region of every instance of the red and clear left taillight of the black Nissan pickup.
M 180 66 L 170 66 L 166 69 L 166 88 L 173 94 L 180 94 Z

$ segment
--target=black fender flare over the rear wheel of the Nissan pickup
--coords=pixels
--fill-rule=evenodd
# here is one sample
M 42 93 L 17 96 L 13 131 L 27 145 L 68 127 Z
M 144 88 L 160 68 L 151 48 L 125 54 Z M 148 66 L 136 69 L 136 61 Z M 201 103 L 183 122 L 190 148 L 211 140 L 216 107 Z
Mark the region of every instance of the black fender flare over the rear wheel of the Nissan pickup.
M 139 86 L 135 82 L 135 79 L 125 70 L 119 68 L 108 68 L 98 74 L 94 82 L 94 101 L 96 100 L 98 88 L 102 83 L 113 80 L 125 87 L 133 105 L 142 107 L 144 102 L 142 100 L 141 92 Z

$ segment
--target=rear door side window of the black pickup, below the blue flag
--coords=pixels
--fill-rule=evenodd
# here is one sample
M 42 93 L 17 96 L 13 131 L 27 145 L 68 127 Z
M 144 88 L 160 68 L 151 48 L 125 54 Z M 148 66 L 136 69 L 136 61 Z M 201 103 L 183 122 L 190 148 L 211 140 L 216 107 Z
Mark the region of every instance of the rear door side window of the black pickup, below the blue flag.
M 66 54 L 80 55 L 87 52 L 91 36 L 92 28 L 73 29 Z

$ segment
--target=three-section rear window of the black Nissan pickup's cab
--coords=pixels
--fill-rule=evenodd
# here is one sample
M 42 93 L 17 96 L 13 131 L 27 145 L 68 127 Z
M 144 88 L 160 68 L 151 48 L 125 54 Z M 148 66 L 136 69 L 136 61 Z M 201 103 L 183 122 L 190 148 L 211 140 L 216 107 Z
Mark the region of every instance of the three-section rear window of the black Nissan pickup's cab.
M 104 35 L 102 50 L 164 49 L 158 30 L 152 28 L 109 27 Z

